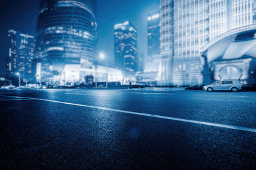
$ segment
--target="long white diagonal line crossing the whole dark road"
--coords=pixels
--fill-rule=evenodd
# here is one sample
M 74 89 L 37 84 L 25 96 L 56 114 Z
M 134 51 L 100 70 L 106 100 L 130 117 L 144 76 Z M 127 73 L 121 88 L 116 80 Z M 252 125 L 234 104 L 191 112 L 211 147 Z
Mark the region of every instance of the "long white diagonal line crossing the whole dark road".
M 202 122 L 202 121 L 189 120 L 189 119 L 184 119 L 184 118 L 164 117 L 161 115 L 139 113 L 139 112 L 134 112 L 134 111 L 116 110 L 116 109 L 111 109 L 111 108 L 103 108 L 103 107 L 99 107 L 99 106 L 88 106 L 88 105 L 84 105 L 84 104 L 67 103 L 67 102 L 53 101 L 53 100 L 48 100 L 48 99 L 39 99 L 39 98 L 29 98 L 29 99 L 35 99 L 35 100 L 39 100 L 39 101 L 48 101 L 48 102 L 52 102 L 52 103 L 68 104 L 68 105 L 72 105 L 72 106 L 81 106 L 81 107 L 85 107 L 85 108 L 94 108 L 94 109 L 98 109 L 98 110 L 115 111 L 115 112 L 119 112 L 119 113 L 127 113 L 127 114 L 131 114 L 131 115 L 140 115 L 140 116 L 145 116 L 145 117 L 163 118 L 163 119 L 175 120 L 175 121 L 179 121 L 179 122 L 188 122 L 191 124 L 209 125 L 209 126 L 213 126 L 213 127 L 222 127 L 222 128 L 226 128 L 226 129 L 234 129 L 234 130 L 239 130 L 239 131 L 256 132 L 256 129 L 248 128 L 248 127 L 239 127 L 236 125 L 215 124 L 215 123 L 211 123 L 211 122 Z

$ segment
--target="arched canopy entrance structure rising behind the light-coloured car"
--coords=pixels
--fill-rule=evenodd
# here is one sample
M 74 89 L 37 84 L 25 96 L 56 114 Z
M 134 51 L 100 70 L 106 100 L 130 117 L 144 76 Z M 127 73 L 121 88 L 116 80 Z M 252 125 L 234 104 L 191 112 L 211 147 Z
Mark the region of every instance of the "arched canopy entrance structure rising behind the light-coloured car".
M 204 84 L 216 80 L 241 80 L 256 84 L 256 25 L 232 29 L 201 49 Z

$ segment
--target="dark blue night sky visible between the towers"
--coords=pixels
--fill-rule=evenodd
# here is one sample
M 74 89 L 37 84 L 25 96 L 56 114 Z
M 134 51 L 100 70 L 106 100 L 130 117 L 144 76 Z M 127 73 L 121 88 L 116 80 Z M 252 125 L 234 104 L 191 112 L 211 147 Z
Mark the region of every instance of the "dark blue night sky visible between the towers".
M 8 29 L 35 36 L 40 0 L 1 0 L 0 6 L 0 75 L 4 75 L 8 55 Z M 159 10 L 160 0 L 98 0 L 99 52 L 106 53 L 113 64 L 114 25 L 130 20 L 138 29 L 138 52 L 147 55 L 147 14 Z

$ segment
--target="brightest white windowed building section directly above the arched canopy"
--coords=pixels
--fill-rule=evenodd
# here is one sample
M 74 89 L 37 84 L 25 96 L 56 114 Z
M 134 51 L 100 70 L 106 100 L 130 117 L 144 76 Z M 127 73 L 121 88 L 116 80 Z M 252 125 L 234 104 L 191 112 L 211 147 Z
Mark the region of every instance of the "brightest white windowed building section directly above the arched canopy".
M 255 3 L 255 0 L 209 1 L 209 40 L 231 29 L 253 24 Z

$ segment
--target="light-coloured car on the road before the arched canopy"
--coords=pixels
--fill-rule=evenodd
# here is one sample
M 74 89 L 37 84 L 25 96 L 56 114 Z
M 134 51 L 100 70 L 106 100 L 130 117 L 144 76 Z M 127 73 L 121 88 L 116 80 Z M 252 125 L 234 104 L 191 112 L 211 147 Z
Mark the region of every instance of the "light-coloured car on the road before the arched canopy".
M 211 85 L 205 85 L 204 90 L 212 92 L 213 90 L 231 90 L 237 92 L 242 89 L 242 84 L 238 80 L 223 80 L 211 83 Z

